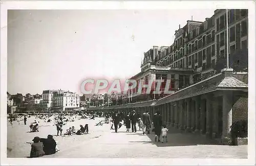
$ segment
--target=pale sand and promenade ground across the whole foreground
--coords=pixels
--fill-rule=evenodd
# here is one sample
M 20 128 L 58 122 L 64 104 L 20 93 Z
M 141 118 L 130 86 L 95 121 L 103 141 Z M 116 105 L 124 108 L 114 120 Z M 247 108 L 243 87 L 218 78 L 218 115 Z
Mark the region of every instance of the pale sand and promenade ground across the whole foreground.
M 181 133 L 176 129 L 169 130 L 168 143 L 155 143 L 153 133 L 143 135 L 142 131 L 126 132 L 125 126 L 115 133 L 110 130 L 109 124 L 95 126 L 99 121 L 100 118 L 96 118 L 68 123 L 64 129 L 88 123 L 90 134 L 54 136 L 60 151 L 41 158 L 247 158 L 247 145 L 216 145 L 203 136 Z M 31 141 L 34 136 L 56 134 L 53 124 L 41 125 L 39 130 L 38 133 L 27 133 L 28 125 L 8 125 L 7 157 L 24 158 L 30 153 L 30 145 L 26 141 Z

